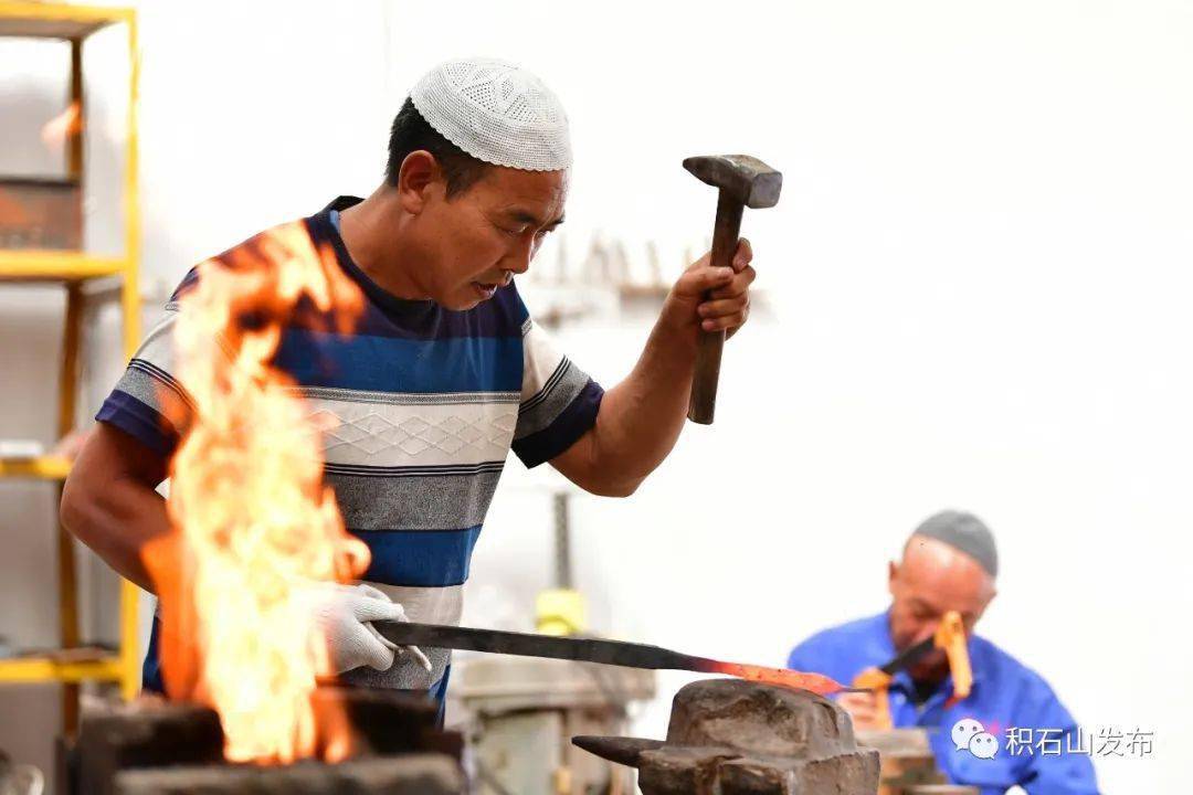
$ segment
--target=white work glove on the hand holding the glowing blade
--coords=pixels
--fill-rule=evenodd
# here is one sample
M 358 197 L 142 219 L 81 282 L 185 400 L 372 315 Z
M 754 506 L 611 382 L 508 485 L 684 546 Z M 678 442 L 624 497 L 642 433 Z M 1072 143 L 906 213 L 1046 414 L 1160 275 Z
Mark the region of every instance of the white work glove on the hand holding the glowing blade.
M 339 583 L 314 583 L 302 591 L 308 602 L 332 654 L 332 667 L 344 673 L 367 665 L 377 671 L 388 671 L 394 657 L 409 652 L 431 671 L 431 660 L 418 646 L 398 647 L 382 638 L 372 621 L 406 621 L 401 604 L 372 585 L 341 585 Z

